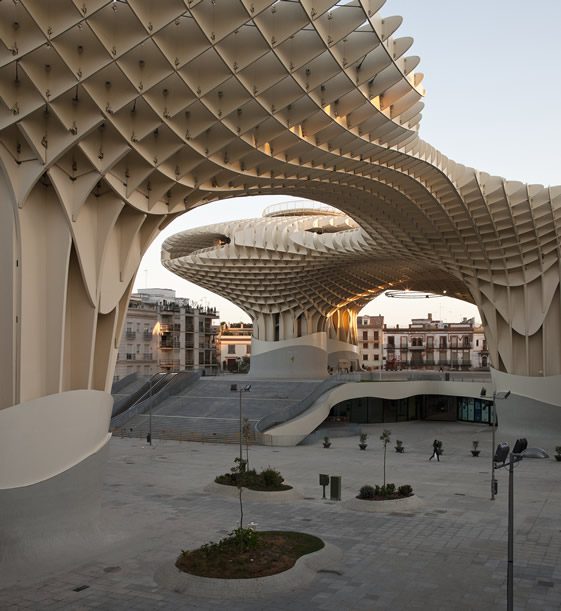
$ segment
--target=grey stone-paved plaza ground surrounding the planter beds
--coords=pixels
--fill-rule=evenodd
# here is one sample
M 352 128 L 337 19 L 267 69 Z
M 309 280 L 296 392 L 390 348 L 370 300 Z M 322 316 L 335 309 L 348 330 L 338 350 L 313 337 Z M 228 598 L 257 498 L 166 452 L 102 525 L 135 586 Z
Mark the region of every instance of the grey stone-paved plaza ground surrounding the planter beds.
M 363 484 L 382 483 L 379 436 L 384 427 L 406 447 L 397 454 L 393 444 L 388 446 L 387 480 L 411 484 L 422 506 L 363 513 L 322 500 L 319 473 L 342 476 L 343 499 L 355 496 Z M 278 468 L 304 498 L 246 501 L 246 522 L 263 530 L 310 532 L 343 552 L 338 566 L 321 570 L 306 588 L 211 599 L 158 586 L 156 570 L 172 564 L 181 549 L 216 541 L 236 527 L 236 499 L 213 495 L 205 487 L 229 470 L 237 448 L 157 440 L 149 447 L 138 439 L 114 438 L 98 540 L 39 568 L 22 566 L 16 582 L 3 583 L 0 576 L 0 609 L 506 608 L 508 473 L 497 471 L 499 494 L 490 501 L 489 428 L 404 422 L 364 430 L 369 433 L 365 452 L 357 438 L 334 439 L 328 450 L 321 443 L 250 448 L 252 466 Z M 428 461 L 434 438 L 444 442 L 439 463 Z M 480 441 L 478 458 L 470 454 L 473 439 Z M 553 459 L 524 460 L 514 474 L 517 610 L 561 608 L 560 478 L 561 464 Z

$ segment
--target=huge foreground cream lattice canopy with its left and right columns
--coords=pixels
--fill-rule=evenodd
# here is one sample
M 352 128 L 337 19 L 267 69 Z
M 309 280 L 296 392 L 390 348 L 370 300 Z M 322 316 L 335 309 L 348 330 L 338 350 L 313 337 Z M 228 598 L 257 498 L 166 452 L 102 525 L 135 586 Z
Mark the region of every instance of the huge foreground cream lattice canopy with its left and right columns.
M 344 321 L 365 291 L 446 291 L 478 306 L 497 376 L 559 402 L 561 187 L 418 137 L 419 58 L 383 4 L 0 3 L 0 502 L 90 481 L 143 253 L 181 213 L 233 196 L 352 219 L 352 243 L 305 236 L 334 270 L 317 320 Z M 357 275 L 337 287 L 347 247 Z

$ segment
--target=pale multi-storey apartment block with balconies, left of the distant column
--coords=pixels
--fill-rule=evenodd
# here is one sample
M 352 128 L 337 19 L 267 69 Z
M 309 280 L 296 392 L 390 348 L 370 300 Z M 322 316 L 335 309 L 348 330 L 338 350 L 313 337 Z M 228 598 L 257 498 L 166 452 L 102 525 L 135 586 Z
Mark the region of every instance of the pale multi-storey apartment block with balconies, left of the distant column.
M 140 373 L 203 370 L 216 373 L 216 308 L 176 297 L 171 289 L 143 289 L 131 296 L 115 380 Z

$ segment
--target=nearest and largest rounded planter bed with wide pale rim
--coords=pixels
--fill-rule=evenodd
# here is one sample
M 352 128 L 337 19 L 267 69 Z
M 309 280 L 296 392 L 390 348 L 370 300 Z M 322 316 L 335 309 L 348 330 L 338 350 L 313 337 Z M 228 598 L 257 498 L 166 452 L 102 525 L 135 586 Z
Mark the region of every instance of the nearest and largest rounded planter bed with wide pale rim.
M 217 572 L 210 569 L 205 571 L 220 577 L 185 573 L 169 562 L 156 571 L 154 578 L 167 589 L 195 597 L 246 598 L 270 596 L 271 593 L 305 587 L 318 571 L 339 567 L 341 551 L 312 535 L 284 531 L 260 532 L 258 535 L 262 537 L 261 549 L 256 547 L 240 555 L 235 546 L 233 555 L 228 557 L 225 553 L 219 561 L 226 568 L 222 566 Z M 200 550 L 194 550 L 191 554 Z M 263 555 L 259 555 L 261 552 Z M 187 557 L 191 554 L 188 553 Z M 179 563 L 183 556 L 182 553 L 178 558 Z M 271 574 L 272 570 L 278 572 Z M 229 578 L 225 578 L 225 575 Z

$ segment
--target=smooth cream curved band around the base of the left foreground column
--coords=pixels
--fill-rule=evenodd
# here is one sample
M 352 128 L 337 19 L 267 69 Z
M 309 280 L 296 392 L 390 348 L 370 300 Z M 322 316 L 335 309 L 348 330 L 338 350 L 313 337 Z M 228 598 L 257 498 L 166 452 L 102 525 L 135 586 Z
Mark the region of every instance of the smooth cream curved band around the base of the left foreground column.
M 0 490 L 36 484 L 98 452 L 108 433 L 113 398 L 72 390 L 0 410 Z

